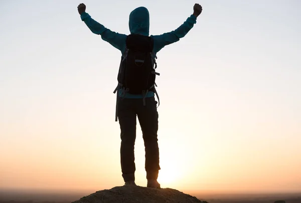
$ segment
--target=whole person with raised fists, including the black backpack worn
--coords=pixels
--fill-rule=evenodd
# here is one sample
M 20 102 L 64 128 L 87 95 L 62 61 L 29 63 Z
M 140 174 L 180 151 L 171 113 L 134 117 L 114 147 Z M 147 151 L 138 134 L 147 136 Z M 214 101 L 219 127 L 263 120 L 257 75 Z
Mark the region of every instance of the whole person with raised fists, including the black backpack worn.
M 115 33 L 94 21 L 80 4 L 81 20 L 96 35 L 120 50 L 121 62 L 118 71 L 116 117 L 120 125 L 120 161 L 125 185 L 135 185 L 134 143 L 136 138 L 136 116 L 143 134 L 145 146 L 145 170 L 147 187 L 160 188 L 157 181 L 160 168 L 158 147 L 159 97 L 155 89 L 157 68 L 156 54 L 165 46 L 178 42 L 196 24 L 202 7 L 195 4 L 193 14 L 178 29 L 162 35 L 149 36 L 149 13 L 144 7 L 129 15 L 130 35 Z M 155 66 L 155 68 L 154 68 Z M 155 94 L 158 102 L 155 100 Z

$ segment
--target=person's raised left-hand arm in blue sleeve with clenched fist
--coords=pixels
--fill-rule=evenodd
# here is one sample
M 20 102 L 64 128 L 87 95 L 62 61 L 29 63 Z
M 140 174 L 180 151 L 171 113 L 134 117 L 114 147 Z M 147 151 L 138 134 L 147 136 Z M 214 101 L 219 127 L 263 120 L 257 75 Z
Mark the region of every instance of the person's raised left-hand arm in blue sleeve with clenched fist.
M 120 50 L 121 52 L 124 51 L 126 35 L 110 31 L 100 23 L 93 20 L 91 16 L 86 13 L 86 6 L 84 4 L 80 4 L 77 7 L 77 10 L 80 14 L 81 20 L 85 22 L 85 24 L 91 30 L 92 33 L 100 35 L 101 39 L 110 43 L 113 47 Z

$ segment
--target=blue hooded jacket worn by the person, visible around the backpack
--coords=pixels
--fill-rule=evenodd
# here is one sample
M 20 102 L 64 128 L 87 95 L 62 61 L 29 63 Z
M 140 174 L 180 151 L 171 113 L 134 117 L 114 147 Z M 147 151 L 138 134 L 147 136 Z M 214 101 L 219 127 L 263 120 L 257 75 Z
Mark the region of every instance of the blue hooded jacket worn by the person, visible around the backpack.
M 126 37 L 127 35 L 115 33 L 107 28 L 105 28 L 100 23 L 96 22 L 87 13 L 81 14 L 81 20 L 85 22 L 92 33 L 100 35 L 101 38 L 110 43 L 113 47 L 120 50 L 121 54 L 125 52 L 126 49 Z M 178 42 L 180 38 L 183 38 L 196 24 L 196 17 L 191 15 L 179 28 L 176 30 L 164 33 L 162 35 L 151 35 L 154 39 L 154 50 L 153 53 L 156 55 L 162 48 L 172 43 Z M 130 34 L 140 34 L 144 36 L 149 36 L 149 13 L 144 7 L 139 7 L 133 10 L 129 15 L 129 31 Z M 122 91 L 119 91 L 122 94 Z M 148 92 L 146 97 L 153 97 L 154 92 Z M 131 95 L 125 94 L 125 98 L 142 98 L 142 95 Z

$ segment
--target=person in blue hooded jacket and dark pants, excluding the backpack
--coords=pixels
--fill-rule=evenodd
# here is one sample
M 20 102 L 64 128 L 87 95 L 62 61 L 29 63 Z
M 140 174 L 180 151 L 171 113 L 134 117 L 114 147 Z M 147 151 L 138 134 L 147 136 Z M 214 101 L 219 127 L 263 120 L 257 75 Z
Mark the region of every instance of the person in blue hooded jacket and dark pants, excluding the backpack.
M 90 31 L 96 35 L 100 35 L 102 40 L 118 49 L 122 56 L 124 56 L 124 53 L 128 49 L 127 46 L 129 46 L 127 41 L 129 36 L 113 32 L 93 20 L 91 16 L 86 13 L 86 6 L 84 4 L 79 4 L 77 8 L 81 20 L 86 24 Z M 180 38 L 183 38 L 194 27 L 194 24 L 196 24 L 196 20 L 201 13 L 201 5 L 195 4 L 193 7 L 193 14 L 190 15 L 179 28 L 162 35 L 149 36 L 148 10 L 145 7 L 138 7 L 129 15 L 128 26 L 130 35 L 148 37 L 147 39 L 150 39 L 149 42 L 152 42 L 152 46 L 150 46 L 152 47 L 152 50 L 150 51 L 157 58 L 156 55 L 161 49 L 167 45 L 178 42 Z M 139 45 L 140 42 L 136 42 L 135 44 Z M 157 92 L 154 87 L 151 89 L 152 91 L 146 91 L 144 94 L 131 94 L 130 92 L 126 92 L 124 88 L 121 88 L 120 86 L 117 86 L 116 89 L 118 89 L 118 93 L 116 99 L 115 121 L 117 121 L 118 117 L 121 131 L 120 163 L 122 177 L 125 182 L 124 185 L 136 185 L 134 175 L 134 143 L 136 138 L 136 117 L 138 117 L 145 147 L 146 186 L 161 188 L 160 183 L 157 181 L 159 170 L 161 169 L 159 164 L 157 134 L 159 113 L 157 110 L 158 102 L 155 99 L 155 94 Z

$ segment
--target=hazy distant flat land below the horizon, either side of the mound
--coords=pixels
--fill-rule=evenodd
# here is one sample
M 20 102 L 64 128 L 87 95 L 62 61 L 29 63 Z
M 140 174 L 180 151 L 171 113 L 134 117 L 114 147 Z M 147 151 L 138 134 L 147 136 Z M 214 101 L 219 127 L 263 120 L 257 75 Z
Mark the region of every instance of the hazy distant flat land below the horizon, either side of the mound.
M 91 191 L 93 193 L 95 191 Z M 90 194 L 89 192 L 35 192 L 0 190 L 0 203 L 70 203 Z M 285 200 L 285 203 L 301 203 L 299 193 L 267 193 L 267 194 L 195 194 L 200 200 L 209 203 L 273 203 Z

